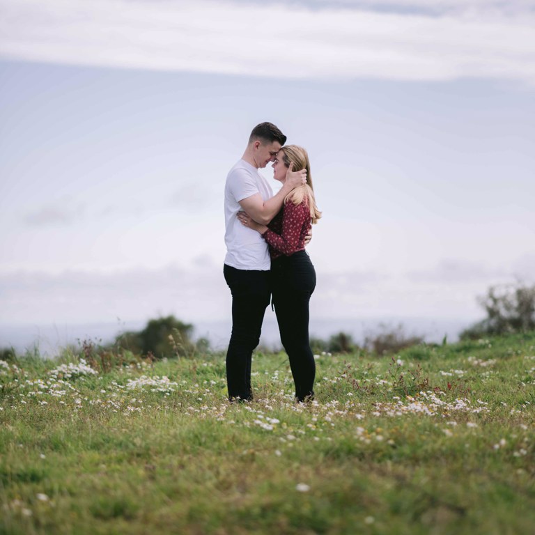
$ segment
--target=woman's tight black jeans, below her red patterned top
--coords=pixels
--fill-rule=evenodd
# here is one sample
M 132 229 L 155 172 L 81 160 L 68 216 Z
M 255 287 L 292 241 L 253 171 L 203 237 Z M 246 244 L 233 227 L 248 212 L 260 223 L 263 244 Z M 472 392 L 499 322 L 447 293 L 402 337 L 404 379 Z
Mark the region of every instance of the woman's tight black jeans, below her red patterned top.
M 316 288 L 316 271 L 306 251 L 271 262 L 273 304 L 281 342 L 290 359 L 298 401 L 313 398 L 316 362 L 309 343 L 309 301 Z

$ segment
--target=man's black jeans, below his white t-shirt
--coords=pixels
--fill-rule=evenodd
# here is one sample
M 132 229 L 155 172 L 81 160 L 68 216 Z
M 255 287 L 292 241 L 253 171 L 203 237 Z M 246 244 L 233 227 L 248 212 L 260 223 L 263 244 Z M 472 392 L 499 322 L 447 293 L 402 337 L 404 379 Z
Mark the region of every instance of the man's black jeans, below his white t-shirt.
M 223 274 L 232 293 L 232 334 L 226 352 L 228 398 L 250 401 L 251 359 L 260 342 L 265 308 L 270 304 L 270 272 L 237 270 L 225 264 Z

